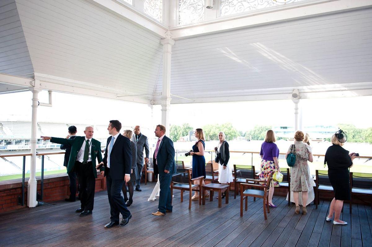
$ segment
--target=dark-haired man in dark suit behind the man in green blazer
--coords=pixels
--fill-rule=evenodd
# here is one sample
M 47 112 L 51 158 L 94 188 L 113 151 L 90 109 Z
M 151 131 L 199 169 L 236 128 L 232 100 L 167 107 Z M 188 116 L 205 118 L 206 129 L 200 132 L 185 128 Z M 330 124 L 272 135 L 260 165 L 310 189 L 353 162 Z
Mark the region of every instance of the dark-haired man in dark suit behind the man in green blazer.
M 76 137 L 76 132 L 77 132 L 77 129 L 75 126 L 68 127 L 68 136 L 66 137 L 66 139 L 74 139 Z M 63 166 L 67 168 L 68 160 L 70 159 L 70 154 L 71 154 L 71 145 L 61 144 L 60 149 L 66 150 Z M 70 180 L 70 198 L 66 198 L 65 201 L 74 202 L 76 201 L 76 176 L 77 176 L 76 169 L 73 169 L 71 172 L 67 174 L 68 174 L 68 179 Z

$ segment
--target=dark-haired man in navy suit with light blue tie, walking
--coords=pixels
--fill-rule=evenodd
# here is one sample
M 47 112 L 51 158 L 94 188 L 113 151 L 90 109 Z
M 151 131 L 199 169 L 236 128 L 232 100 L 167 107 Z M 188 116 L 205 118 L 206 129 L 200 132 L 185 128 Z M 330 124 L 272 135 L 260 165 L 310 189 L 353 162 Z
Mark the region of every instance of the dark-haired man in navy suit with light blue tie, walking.
M 105 176 L 107 185 L 107 195 L 110 204 L 110 222 L 105 225 L 105 228 L 114 225 L 124 226 L 128 224 L 132 218 L 131 212 L 125 205 L 123 196 L 121 196 L 121 189 L 124 182 L 130 180 L 132 153 L 131 141 L 129 138 L 122 136 L 121 123 L 118 120 L 111 120 L 107 128 L 111 135 L 107 139 L 106 152 L 103 157 L 105 165 Z M 136 157 L 133 157 L 135 159 Z M 123 218 L 119 224 L 119 216 L 122 214 Z

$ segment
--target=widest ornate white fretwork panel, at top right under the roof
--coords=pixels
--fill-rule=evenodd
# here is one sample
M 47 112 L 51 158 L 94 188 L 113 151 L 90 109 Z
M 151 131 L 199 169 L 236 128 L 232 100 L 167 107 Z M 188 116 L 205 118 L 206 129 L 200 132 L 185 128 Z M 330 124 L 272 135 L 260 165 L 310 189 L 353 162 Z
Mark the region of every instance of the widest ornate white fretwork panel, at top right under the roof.
M 221 16 L 238 14 L 304 0 L 221 0 Z

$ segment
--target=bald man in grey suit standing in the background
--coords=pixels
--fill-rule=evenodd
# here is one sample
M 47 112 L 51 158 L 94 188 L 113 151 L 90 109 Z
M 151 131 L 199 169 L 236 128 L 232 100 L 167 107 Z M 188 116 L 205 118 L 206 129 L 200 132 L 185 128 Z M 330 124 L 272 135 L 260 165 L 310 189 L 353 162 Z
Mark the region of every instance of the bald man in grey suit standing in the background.
M 136 191 L 142 191 L 140 188 L 142 167 L 144 162 L 148 163 L 148 157 L 150 157 L 150 149 L 148 148 L 147 136 L 141 133 L 140 126 L 134 127 L 134 135 L 132 141 L 137 145 L 137 168 L 138 168 L 138 179 L 136 180 Z M 143 149 L 145 148 L 146 157 L 143 158 Z

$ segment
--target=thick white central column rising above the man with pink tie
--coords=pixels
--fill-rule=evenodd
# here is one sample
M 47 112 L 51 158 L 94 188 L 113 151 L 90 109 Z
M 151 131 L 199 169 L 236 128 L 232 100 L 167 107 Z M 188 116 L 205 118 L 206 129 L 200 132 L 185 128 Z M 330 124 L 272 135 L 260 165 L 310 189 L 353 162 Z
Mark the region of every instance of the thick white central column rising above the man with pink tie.
M 160 40 L 163 45 L 163 90 L 161 92 L 161 124 L 166 127 L 166 131 L 169 131 L 169 110 L 170 110 L 170 63 L 172 56 L 172 45 L 174 40 L 171 39 L 172 34 L 170 32 L 165 33 L 166 38 Z

